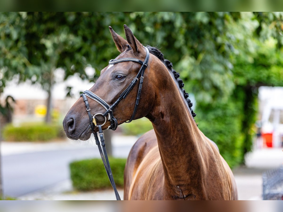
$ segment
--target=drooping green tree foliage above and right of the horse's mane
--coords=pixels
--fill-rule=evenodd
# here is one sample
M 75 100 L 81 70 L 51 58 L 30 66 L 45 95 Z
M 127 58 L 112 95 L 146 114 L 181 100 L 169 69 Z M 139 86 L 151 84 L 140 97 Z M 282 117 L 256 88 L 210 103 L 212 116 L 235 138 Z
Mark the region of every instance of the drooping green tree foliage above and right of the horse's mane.
M 228 98 L 234 88 L 225 38 L 238 17 L 229 12 L 139 12 L 130 14 L 128 26 L 143 43 L 162 47 L 198 99 L 213 102 Z

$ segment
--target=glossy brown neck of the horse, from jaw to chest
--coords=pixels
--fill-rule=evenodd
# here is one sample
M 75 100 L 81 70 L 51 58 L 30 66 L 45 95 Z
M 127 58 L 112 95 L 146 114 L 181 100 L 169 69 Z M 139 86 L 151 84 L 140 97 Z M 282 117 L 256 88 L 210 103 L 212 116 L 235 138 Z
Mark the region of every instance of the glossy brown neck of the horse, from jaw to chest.
M 165 67 L 164 67 L 165 68 Z M 166 72 L 167 69 L 165 70 Z M 203 134 L 185 105 L 171 75 L 158 86 L 155 103 L 147 116 L 155 130 L 168 189 L 188 185 L 190 179 L 200 179 L 203 173 Z M 160 85 L 160 84 L 159 84 Z M 201 179 L 199 181 L 201 183 Z

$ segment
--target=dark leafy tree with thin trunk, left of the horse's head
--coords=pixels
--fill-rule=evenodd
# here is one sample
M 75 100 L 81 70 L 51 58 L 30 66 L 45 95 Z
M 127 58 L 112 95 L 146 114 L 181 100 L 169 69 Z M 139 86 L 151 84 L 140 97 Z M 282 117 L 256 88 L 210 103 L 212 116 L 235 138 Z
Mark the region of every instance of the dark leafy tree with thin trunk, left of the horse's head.
M 86 44 L 82 36 L 73 33 L 75 18 L 73 13 L 55 12 L 28 12 L 25 17 L 27 58 L 38 68 L 37 72 L 33 70 L 31 80 L 39 82 L 48 92 L 46 122 L 51 122 L 54 70 L 63 68 L 67 72 L 66 77 L 77 72 L 86 78 L 84 68 L 87 60 L 83 55 Z

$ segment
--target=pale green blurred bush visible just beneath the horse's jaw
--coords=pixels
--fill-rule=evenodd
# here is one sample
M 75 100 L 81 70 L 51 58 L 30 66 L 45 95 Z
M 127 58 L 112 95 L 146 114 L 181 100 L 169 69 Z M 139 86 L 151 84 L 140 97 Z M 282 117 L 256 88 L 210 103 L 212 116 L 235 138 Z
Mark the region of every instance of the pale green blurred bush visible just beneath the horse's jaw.
M 125 135 L 137 135 L 140 136 L 147 131 L 153 129 L 151 122 L 143 117 L 137 120 L 133 120 L 130 123 L 124 123 L 121 125 L 123 133 Z

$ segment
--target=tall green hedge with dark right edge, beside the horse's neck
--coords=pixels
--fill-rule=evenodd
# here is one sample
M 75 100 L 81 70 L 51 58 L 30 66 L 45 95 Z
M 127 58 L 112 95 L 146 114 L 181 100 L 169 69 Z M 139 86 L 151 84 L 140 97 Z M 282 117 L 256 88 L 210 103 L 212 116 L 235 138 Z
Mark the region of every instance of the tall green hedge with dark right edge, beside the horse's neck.
M 251 151 L 257 108 L 257 89 L 243 86 L 224 103 L 198 104 L 198 127 L 218 145 L 231 168 L 244 163 L 245 153 Z

